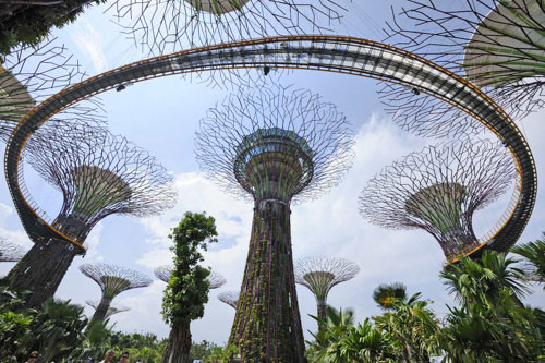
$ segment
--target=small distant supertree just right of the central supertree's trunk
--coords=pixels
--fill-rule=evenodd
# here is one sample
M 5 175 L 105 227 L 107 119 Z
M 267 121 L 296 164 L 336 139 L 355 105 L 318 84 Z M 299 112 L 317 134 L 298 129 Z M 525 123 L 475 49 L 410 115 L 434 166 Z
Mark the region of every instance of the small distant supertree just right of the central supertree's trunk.
M 359 271 L 356 264 L 344 258 L 305 257 L 295 262 L 295 282 L 311 290 L 316 298 L 318 318 L 325 320 L 329 290 L 354 278 Z M 318 328 L 322 329 L 322 324 Z

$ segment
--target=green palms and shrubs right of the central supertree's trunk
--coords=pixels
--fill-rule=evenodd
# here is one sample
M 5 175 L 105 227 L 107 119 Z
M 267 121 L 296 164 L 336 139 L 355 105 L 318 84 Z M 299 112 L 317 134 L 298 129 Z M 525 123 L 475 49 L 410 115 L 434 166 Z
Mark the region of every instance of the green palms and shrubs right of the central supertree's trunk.
M 535 243 L 514 251 L 533 249 Z M 380 286 L 374 298 L 384 314 L 358 326 L 350 310 L 328 306 L 326 319 L 315 317 L 324 331 L 307 342 L 308 361 L 543 362 L 545 313 L 520 303 L 529 275 L 518 266 L 504 253 L 485 252 L 479 261 L 463 258 L 441 271 L 459 306 L 447 306 L 440 319 L 431 301 L 421 293 L 408 298 L 400 283 Z

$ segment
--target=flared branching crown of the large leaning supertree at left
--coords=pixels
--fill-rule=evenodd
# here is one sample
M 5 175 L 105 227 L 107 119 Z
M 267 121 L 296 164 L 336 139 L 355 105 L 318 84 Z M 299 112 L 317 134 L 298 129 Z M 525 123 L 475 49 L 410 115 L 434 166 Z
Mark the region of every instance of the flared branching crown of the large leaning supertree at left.
M 83 242 L 112 214 L 149 216 L 173 206 L 172 176 L 146 150 L 106 130 L 73 123 L 40 128 L 27 161 L 62 192 L 53 226 Z

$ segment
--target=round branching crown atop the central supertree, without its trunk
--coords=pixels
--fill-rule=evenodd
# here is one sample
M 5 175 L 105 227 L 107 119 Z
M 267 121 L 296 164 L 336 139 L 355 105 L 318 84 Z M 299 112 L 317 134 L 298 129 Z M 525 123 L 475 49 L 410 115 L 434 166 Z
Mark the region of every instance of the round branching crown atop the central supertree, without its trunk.
M 202 120 L 196 153 L 226 191 L 255 201 L 303 201 L 337 184 L 351 166 L 349 123 L 318 95 L 272 86 L 241 90 L 221 106 Z

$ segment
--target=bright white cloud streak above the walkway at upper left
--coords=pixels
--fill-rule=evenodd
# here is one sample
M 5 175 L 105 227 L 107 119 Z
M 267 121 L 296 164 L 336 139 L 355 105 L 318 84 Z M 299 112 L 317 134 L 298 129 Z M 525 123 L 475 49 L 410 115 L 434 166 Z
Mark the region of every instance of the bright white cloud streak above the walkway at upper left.
M 72 40 L 83 55 L 90 59 L 95 71 L 102 73 L 108 70 L 108 62 L 104 52 L 102 37 L 89 21 L 82 19 L 71 33 Z

